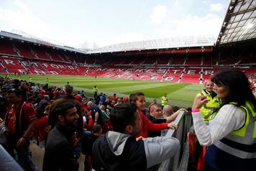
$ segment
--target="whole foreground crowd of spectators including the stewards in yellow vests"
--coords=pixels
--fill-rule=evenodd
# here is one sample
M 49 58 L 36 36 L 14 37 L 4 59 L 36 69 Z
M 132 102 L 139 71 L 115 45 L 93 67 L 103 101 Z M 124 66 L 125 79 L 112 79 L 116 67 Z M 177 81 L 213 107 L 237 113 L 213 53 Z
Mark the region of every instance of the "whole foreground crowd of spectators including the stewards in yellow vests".
M 45 149 L 45 171 L 79 170 L 81 153 L 85 171 L 155 170 L 180 149 L 178 139 L 165 135 L 177 129 L 173 121 L 184 111 L 192 112 L 198 142 L 207 149 L 206 170 L 250 170 L 256 136 L 255 81 L 250 79 L 238 70 L 217 73 L 192 109 L 185 109 L 170 106 L 166 94 L 160 106 L 154 99 L 146 107 L 142 92 L 107 96 L 94 86 L 94 97 L 88 98 L 70 83 L 60 88 L 1 77 L 0 144 L 24 170 L 38 170 L 29 154 L 33 138 Z

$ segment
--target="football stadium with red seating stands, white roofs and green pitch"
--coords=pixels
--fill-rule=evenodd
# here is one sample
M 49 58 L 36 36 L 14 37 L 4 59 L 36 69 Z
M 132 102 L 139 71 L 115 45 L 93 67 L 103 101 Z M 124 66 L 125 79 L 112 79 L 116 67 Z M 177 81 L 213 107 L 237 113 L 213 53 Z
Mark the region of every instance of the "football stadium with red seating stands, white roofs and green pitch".
M 50 86 L 60 88 L 69 82 L 89 98 L 94 86 L 99 93 L 120 98 L 143 92 L 147 106 L 153 99 L 160 103 L 167 93 L 171 106 L 188 108 L 206 80 L 221 70 L 241 70 L 255 83 L 256 1 L 230 1 L 219 28 L 218 37 L 143 40 L 87 50 L 1 31 L 0 73 L 40 84 L 47 78 Z M 175 136 L 183 143 L 180 154 L 158 170 L 187 170 L 191 117 L 179 119 Z

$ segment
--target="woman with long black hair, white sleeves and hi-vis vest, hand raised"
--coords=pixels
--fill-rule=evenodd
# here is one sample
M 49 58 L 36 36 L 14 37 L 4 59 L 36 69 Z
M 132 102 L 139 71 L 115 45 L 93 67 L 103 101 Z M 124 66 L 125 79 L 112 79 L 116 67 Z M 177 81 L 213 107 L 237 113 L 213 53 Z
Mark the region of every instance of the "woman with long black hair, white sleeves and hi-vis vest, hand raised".
M 208 146 L 206 170 L 256 170 L 256 100 L 247 77 L 230 69 L 211 81 L 222 104 L 209 125 L 200 112 L 206 96 L 196 96 L 192 109 L 198 141 Z

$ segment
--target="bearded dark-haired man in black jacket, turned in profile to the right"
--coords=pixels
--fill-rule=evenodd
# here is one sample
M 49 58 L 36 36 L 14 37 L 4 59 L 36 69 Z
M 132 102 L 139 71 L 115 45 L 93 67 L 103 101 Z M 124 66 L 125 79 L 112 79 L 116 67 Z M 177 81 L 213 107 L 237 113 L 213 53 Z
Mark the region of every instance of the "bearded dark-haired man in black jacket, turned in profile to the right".
M 78 123 L 77 109 L 73 103 L 58 103 L 52 111 L 57 120 L 50 131 L 45 147 L 43 171 L 78 170 L 79 164 L 74 155 L 74 147 L 78 143 L 73 127 Z

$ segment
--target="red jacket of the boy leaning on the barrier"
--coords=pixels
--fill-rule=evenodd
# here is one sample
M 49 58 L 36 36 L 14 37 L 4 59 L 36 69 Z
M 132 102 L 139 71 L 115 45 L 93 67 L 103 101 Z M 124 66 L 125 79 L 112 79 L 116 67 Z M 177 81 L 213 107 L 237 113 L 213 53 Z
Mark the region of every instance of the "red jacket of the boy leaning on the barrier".
M 142 136 L 143 138 L 147 138 L 147 130 L 150 131 L 160 131 L 163 129 L 168 129 L 168 124 L 153 124 L 152 121 L 148 120 L 147 117 L 140 111 L 140 118 L 141 118 L 141 124 L 142 129 L 140 130 L 140 133 L 137 134 L 135 137 Z

